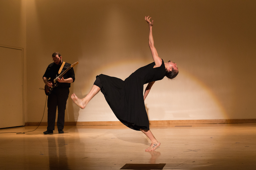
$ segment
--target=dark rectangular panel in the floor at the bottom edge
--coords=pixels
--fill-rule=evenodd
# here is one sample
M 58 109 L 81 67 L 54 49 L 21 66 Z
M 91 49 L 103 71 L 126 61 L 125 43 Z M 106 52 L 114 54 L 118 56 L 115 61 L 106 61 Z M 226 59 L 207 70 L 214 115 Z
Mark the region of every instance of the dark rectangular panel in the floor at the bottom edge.
M 163 169 L 166 164 L 125 164 L 121 169 Z

